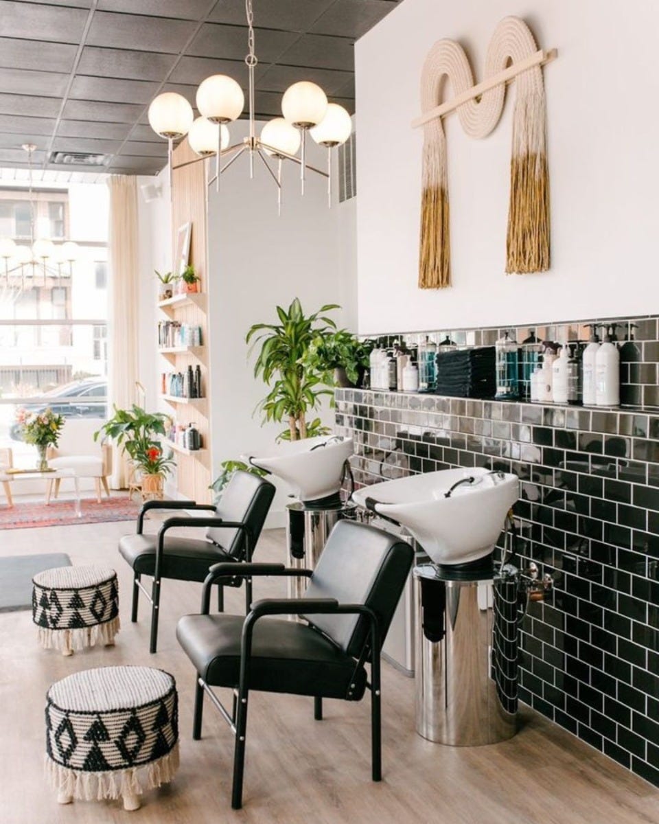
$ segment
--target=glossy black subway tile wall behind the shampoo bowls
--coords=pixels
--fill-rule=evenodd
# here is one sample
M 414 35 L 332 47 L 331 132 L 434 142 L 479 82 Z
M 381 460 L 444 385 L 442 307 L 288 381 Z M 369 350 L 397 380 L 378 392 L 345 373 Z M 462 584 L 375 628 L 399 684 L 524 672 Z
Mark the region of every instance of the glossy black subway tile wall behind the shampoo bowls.
M 659 362 L 657 319 L 634 322 L 635 345 L 647 347 L 639 357 Z M 488 331 L 479 343 L 492 342 Z M 470 335 L 475 342 L 479 333 Z M 640 400 L 657 389 L 650 372 L 638 372 L 654 381 L 638 384 Z M 336 423 L 355 440 L 360 486 L 456 466 L 519 476 L 521 557 L 554 578 L 553 594 L 530 603 L 522 625 L 521 698 L 659 784 L 659 409 L 652 406 L 600 411 L 336 391 Z

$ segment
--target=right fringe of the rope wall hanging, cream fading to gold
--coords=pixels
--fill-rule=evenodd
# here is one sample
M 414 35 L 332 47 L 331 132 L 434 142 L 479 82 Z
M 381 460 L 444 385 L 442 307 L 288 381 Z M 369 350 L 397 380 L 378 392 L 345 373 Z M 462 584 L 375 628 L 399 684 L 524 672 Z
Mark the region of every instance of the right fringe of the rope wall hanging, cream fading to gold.
M 544 91 L 518 96 L 512 121 L 510 206 L 506 242 L 509 274 L 549 269 L 549 170 Z

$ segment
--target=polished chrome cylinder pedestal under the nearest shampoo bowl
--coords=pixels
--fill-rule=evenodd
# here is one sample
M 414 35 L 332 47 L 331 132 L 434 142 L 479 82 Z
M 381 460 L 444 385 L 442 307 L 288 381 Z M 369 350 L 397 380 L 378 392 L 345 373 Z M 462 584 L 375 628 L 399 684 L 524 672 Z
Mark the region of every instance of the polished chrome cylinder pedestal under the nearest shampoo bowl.
M 433 742 L 505 741 L 517 723 L 516 577 L 414 568 L 416 728 Z

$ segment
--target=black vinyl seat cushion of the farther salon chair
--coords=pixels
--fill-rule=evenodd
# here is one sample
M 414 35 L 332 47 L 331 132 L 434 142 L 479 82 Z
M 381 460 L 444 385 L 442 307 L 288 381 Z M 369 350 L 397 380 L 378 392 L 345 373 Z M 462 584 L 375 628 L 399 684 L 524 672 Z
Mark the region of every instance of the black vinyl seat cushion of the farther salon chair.
M 157 535 L 124 535 L 119 540 L 119 553 L 135 573 L 152 575 L 156 565 L 157 542 Z M 212 564 L 235 560 L 211 541 L 165 536 L 161 575 L 180 581 L 203 581 Z

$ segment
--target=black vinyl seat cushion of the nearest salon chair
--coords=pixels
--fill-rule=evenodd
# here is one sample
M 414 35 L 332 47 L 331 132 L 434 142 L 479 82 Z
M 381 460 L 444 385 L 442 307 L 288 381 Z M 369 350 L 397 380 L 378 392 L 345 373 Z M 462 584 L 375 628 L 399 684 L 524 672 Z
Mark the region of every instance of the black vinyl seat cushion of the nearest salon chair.
M 185 616 L 176 638 L 210 686 L 238 686 L 244 616 Z M 252 639 L 250 690 L 360 700 L 367 673 L 348 654 L 311 626 L 264 618 Z M 351 685 L 354 684 L 354 687 Z

